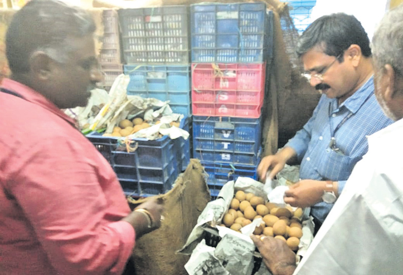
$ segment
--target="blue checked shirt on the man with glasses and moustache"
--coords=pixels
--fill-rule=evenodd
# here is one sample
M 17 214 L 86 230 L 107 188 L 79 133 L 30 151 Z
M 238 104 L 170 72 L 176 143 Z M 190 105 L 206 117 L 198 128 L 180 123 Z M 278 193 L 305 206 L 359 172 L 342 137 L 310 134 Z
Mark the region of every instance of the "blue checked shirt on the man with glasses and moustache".
M 341 106 L 336 98 L 322 95 L 312 117 L 285 146 L 297 153 L 301 179 L 338 181 L 340 194 L 368 150 L 366 136 L 391 123 L 376 100 L 371 77 Z M 333 149 L 329 148 L 332 136 Z M 319 202 L 311 207 L 311 215 L 323 222 L 332 206 Z

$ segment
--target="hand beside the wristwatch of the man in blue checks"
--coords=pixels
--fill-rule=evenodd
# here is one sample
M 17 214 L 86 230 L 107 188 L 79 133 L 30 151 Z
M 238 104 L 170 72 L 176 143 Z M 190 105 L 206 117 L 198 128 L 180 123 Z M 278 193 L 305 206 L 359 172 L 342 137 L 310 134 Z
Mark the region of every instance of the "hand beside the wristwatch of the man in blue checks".
M 310 207 L 322 201 L 325 181 L 302 180 L 290 186 L 284 193 L 284 202 L 293 207 Z

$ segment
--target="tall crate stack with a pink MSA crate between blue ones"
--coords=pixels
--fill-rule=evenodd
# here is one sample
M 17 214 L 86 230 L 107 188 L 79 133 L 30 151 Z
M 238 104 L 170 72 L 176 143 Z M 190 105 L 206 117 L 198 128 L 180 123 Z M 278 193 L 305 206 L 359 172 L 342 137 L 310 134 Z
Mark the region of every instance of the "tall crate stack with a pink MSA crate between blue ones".
M 193 157 L 214 199 L 239 176 L 257 178 L 273 15 L 263 2 L 190 6 Z

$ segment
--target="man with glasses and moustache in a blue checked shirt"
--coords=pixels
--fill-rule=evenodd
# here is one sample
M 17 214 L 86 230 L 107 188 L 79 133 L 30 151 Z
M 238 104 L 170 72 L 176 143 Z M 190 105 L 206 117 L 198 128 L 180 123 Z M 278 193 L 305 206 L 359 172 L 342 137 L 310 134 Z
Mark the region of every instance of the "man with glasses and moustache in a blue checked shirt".
M 392 120 L 375 98 L 370 41 L 354 16 L 318 18 L 304 31 L 296 51 L 304 75 L 322 96 L 303 129 L 278 153 L 264 157 L 257 171 L 265 180 L 285 163 L 300 163 L 301 180 L 285 192 L 284 201 L 311 207 L 317 231 L 367 152 L 366 136 Z

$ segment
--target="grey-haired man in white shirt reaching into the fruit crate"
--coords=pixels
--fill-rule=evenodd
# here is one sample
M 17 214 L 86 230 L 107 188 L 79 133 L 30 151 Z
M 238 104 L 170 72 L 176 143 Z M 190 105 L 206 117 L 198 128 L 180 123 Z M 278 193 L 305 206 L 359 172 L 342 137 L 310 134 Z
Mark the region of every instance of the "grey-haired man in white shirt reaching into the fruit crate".
M 252 236 L 274 275 L 391 275 L 403 270 L 403 5 L 380 22 L 372 41 L 375 95 L 395 122 L 368 136 L 369 149 L 295 266 L 279 239 Z

